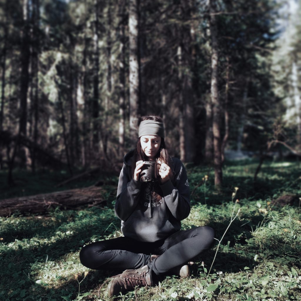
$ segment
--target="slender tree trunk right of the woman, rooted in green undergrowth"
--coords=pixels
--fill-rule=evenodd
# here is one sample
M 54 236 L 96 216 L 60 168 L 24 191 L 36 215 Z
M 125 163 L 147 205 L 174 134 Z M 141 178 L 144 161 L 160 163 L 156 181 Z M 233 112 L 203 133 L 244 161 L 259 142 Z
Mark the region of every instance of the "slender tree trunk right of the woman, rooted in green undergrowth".
M 216 24 L 216 1 L 210 0 L 210 33 L 211 53 L 211 99 L 213 105 L 213 149 L 214 149 L 214 185 L 217 189 L 222 185 L 222 152 L 220 130 L 220 100 L 218 95 L 218 37 Z

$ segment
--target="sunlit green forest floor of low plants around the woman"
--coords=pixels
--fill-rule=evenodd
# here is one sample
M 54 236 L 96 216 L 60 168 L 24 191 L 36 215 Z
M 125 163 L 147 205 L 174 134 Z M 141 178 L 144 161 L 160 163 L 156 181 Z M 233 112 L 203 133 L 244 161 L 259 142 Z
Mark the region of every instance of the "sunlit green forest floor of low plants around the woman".
M 213 189 L 212 169 L 187 166 L 192 209 L 182 228 L 209 225 L 216 244 L 189 263 L 191 277 L 170 275 L 156 287 L 136 288 L 116 300 L 301 300 L 301 164 L 266 162 L 254 186 L 257 164 L 227 162 L 220 193 Z M 60 189 L 86 187 L 98 177 Z M 1 198 L 57 191 L 55 184 L 66 178 L 50 171 L 19 172 L 18 186 L 8 188 L 0 172 Z M 114 274 L 79 262 L 82 245 L 121 235 L 113 210 L 118 176 L 105 179 L 102 208 L 0 218 L 1 300 L 113 300 L 105 294 L 107 284 L 101 284 Z M 296 195 L 297 201 L 278 206 L 274 200 L 285 194 Z

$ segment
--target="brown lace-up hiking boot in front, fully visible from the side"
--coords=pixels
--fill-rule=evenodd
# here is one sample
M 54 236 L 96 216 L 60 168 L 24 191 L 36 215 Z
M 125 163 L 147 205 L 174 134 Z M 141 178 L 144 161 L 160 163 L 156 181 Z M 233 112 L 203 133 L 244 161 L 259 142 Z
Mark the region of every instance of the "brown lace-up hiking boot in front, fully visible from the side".
M 128 290 L 134 290 L 136 286 L 152 285 L 150 270 L 147 265 L 137 270 L 125 270 L 114 277 L 108 287 L 108 296 L 116 296 Z

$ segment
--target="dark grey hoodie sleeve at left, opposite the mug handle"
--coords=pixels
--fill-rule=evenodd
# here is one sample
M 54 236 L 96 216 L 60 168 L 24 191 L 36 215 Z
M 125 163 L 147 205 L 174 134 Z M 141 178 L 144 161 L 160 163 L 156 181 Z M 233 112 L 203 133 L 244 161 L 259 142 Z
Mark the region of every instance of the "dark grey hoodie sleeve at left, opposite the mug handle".
M 116 216 L 126 221 L 136 208 L 140 195 L 141 182 L 129 178 L 125 164 L 119 175 L 117 198 L 115 203 Z

